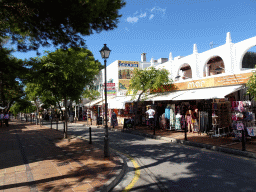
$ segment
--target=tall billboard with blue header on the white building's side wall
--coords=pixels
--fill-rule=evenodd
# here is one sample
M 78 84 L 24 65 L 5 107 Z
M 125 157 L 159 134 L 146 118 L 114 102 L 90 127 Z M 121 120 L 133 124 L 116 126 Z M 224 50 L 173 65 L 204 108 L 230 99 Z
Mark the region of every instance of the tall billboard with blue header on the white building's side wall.
M 137 61 L 118 61 L 119 90 L 127 90 L 129 88 L 133 70 L 138 67 L 139 62 Z

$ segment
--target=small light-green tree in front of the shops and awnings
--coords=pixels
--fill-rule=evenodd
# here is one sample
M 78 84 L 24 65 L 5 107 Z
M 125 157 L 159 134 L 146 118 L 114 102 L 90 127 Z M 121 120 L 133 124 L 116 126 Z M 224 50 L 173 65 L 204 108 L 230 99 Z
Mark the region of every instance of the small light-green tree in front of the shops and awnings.
M 138 95 L 134 111 L 137 111 L 138 103 L 140 102 L 143 94 L 145 95 L 144 98 L 147 98 L 150 94 L 150 90 L 162 89 L 163 85 L 170 83 L 168 75 L 169 72 L 166 69 L 156 69 L 154 67 L 149 67 L 144 70 L 134 70 L 128 89 L 128 92 L 132 91 L 133 98 Z M 135 113 L 135 119 L 137 118 L 136 115 L 137 113 Z

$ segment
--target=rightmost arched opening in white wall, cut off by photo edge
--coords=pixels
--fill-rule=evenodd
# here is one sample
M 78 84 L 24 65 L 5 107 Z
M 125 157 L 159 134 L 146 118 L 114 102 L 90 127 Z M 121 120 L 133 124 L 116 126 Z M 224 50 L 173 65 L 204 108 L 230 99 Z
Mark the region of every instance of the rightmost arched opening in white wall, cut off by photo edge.
M 242 69 L 253 69 L 256 65 L 256 46 L 251 47 L 242 60 Z

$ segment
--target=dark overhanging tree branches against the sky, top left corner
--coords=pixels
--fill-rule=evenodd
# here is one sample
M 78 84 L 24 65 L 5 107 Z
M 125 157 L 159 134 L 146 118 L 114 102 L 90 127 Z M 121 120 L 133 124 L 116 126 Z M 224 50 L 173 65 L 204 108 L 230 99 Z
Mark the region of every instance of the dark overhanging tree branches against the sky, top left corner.
M 82 38 L 117 27 L 123 0 L 1 0 L 0 37 L 11 37 L 19 51 L 40 45 L 85 45 Z

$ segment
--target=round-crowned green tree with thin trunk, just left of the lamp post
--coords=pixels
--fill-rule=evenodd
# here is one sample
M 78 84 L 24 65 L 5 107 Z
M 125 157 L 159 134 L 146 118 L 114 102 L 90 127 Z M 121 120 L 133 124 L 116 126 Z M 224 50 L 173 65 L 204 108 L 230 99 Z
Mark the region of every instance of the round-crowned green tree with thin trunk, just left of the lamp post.
M 42 91 L 49 91 L 56 102 L 63 99 L 66 109 L 67 100 L 78 101 L 84 88 L 92 84 L 103 68 L 91 51 L 84 48 L 58 49 L 47 56 L 31 59 L 29 64 L 31 81 L 40 85 Z M 65 119 L 67 124 L 67 110 Z

